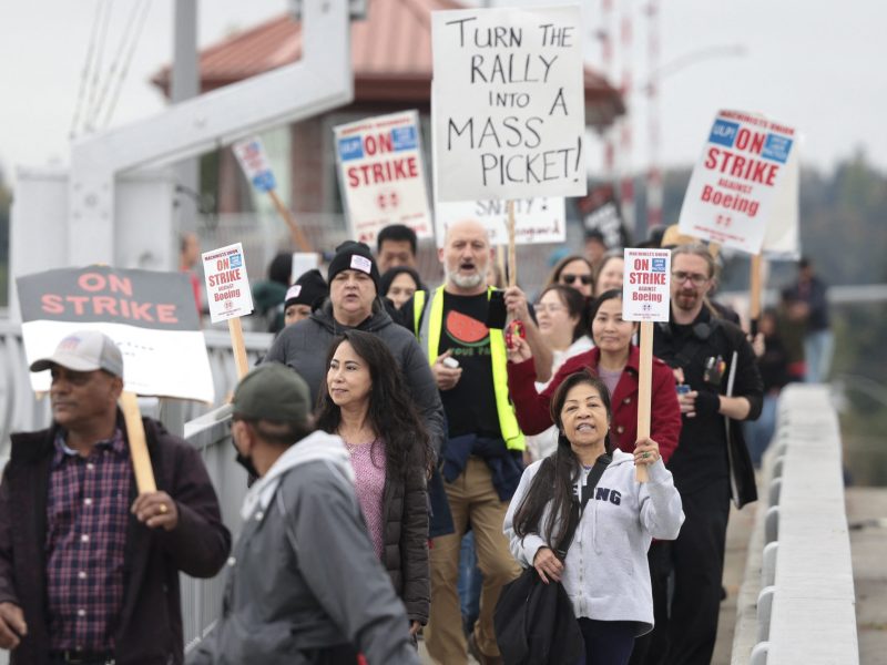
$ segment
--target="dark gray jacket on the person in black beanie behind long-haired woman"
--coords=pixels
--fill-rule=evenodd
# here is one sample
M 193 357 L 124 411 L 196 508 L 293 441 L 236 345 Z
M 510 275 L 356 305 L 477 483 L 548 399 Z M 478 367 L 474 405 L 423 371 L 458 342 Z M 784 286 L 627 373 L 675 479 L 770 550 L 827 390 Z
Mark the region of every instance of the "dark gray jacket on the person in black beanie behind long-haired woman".
M 308 383 L 312 400 L 317 402 L 317 393 L 326 380 L 326 355 L 333 338 L 344 330 L 350 330 L 333 318 L 333 308 L 327 300 L 315 309 L 305 320 L 284 328 L 268 350 L 265 360 L 276 360 L 295 369 Z M 428 429 L 431 446 L 440 453 L 446 437 L 443 427 L 443 406 L 428 362 L 416 337 L 402 326 L 391 320 L 384 309 L 374 311 L 355 329 L 378 335 L 400 366 L 407 381 L 407 390 L 412 397 L 419 417 Z

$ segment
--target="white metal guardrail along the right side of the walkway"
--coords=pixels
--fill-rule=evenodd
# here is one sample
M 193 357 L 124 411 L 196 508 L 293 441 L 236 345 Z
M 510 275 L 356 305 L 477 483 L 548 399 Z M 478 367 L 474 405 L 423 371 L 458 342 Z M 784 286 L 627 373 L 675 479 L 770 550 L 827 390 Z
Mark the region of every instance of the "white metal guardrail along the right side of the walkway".
M 783 390 L 763 475 L 732 663 L 857 664 L 842 443 L 827 387 Z

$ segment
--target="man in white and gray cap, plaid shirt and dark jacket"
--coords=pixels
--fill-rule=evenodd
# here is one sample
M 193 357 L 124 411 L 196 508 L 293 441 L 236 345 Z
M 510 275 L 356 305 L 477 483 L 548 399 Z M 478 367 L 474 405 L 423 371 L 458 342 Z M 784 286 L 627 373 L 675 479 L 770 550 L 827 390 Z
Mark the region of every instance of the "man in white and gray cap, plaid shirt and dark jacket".
M 203 462 L 145 419 L 159 489 L 136 498 L 118 347 L 75 332 L 45 369 L 53 424 L 12 436 L 0 485 L 0 647 L 17 665 L 180 664 L 179 573 L 211 577 L 231 549 Z

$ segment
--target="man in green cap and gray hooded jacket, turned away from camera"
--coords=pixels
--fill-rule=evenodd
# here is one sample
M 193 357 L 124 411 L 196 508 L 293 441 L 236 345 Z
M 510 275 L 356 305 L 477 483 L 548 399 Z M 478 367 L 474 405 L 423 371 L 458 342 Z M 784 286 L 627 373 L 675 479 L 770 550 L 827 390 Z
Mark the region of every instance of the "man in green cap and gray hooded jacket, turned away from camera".
M 419 665 L 406 611 L 376 556 L 337 436 L 313 432 L 309 391 L 269 362 L 234 393 L 244 500 L 222 616 L 188 665 Z

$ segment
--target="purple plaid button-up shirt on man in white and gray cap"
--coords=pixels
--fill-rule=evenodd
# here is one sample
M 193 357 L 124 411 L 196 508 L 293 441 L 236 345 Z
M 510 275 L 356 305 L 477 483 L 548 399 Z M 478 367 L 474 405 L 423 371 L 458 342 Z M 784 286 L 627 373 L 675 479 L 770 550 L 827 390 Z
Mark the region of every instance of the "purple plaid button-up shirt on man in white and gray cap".
M 123 607 L 129 447 L 119 429 L 85 458 L 61 433 L 54 443 L 45 552 L 50 648 L 111 652 Z

